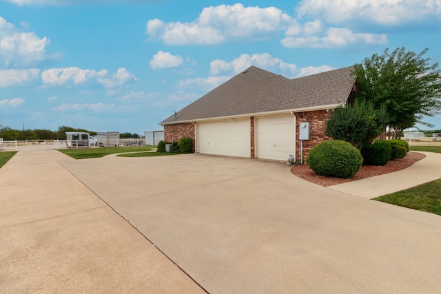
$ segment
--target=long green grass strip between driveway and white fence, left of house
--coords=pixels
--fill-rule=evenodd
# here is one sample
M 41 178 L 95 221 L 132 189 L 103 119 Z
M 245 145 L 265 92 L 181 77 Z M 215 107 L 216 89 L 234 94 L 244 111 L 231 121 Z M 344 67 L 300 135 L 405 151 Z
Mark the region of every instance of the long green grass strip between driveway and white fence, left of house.
M 154 149 L 156 149 L 156 146 L 96 147 L 96 148 L 79 148 L 79 149 L 59 149 L 59 151 L 75 159 L 85 159 L 85 158 L 99 158 L 110 154 L 119 154 L 125 152 L 153 151 Z M 157 153 L 157 152 L 152 152 L 152 153 Z M 139 156 L 139 153 L 137 154 Z

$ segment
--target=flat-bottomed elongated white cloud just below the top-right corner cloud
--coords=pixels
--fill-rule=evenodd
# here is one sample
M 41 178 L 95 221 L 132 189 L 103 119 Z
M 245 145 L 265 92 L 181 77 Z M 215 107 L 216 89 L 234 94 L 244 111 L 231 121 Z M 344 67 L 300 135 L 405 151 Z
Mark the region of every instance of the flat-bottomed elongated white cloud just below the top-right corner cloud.
M 386 34 L 354 33 L 347 28 L 329 28 L 320 36 L 302 34 L 286 36 L 280 43 L 286 48 L 343 48 L 349 45 L 384 45 Z

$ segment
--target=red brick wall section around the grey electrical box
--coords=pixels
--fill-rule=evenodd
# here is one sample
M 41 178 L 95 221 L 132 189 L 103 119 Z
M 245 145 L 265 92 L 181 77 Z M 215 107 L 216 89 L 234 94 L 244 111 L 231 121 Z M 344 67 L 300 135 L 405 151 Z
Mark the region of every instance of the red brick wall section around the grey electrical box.
M 300 123 L 309 123 L 309 140 L 303 140 L 303 162 L 306 162 L 309 150 L 324 140 L 329 140 L 325 136 L 326 120 L 331 112 L 326 110 L 318 110 L 314 112 L 298 112 L 296 113 L 296 161 L 300 162 L 300 140 L 298 140 L 298 132 Z

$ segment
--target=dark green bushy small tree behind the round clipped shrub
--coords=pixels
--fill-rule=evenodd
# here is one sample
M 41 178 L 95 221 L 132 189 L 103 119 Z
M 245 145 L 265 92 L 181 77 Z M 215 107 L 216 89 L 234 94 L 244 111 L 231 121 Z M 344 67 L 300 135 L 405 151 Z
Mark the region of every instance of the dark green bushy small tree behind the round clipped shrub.
M 344 140 L 353 147 L 372 144 L 384 132 L 388 121 L 384 106 L 375 109 L 371 101 L 356 101 L 346 108 L 338 107 L 327 121 L 325 135 Z

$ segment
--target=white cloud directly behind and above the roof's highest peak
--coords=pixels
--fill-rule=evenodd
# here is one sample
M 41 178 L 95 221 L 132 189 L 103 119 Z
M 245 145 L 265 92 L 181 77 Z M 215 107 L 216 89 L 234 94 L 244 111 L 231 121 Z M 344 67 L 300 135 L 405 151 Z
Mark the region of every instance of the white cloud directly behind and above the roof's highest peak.
M 210 73 L 220 74 L 222 72 L 232 72 L 238 74 L 243 70 L 247 69 L 251 65 L 257 67 L 262 67 L 265 70 L 281 70 L 283 72 L 288 72 L 289 74 L 294 74 L 296 72 L 297 66 L 293 63 L 285 63 L 281 59 L 271 56 L 271 54 L 240 54 L 234 61 L 223 61 L 216 59 L 210 63 Z

